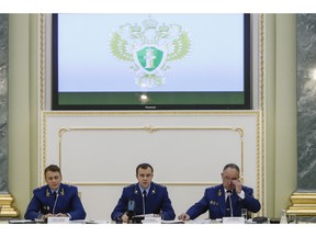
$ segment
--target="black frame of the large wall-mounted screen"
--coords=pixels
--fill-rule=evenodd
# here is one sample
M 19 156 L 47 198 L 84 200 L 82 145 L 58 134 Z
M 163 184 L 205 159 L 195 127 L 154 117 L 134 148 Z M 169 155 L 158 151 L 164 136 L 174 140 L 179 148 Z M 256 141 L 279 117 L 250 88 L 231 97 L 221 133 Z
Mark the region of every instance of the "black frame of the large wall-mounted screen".
M 244 103 L 223 103 L 223 104 L 203 104 L 203 103 L 188 103 L 188 104 L 172 104 L 163 102 L 161 104 L 60 104 L 59 97 L 60 92 L 58 92 L 58 14 L 52 14 L 52 110 L 140 110 L 140 111 L 155 111 L 155 110 L 251 110 L 252 109 L 252 100 L 251 100 L 251 15 L 250 13 L 244 13 Z M 97 93 L 97 92 L 95 92 Z M 103 92 L 106 93 L 106 92 Z M 113 93 L 126 93 L 126 92 L 111 92 Z M 109 92 L 109 95 L 111 97 Z M 134 94 L 142 93 L 133 92 Z M 158 95 L 161 92 L 148 92 L 153 95 Z M 180 94 L 181 92 L 163 92 L 171 97 Z M 199 93 L 202 94 L 204 92 L 187 92 L 188 97 Z M 216 93 L 224 94 L 225 92 L 205 92 L 216 98 Z M 82 94 L 84 95 L 84 94 Z M 185 97 L 185 93 L 182 94 Z M 190 97 L 189 97 L 190 98 Z

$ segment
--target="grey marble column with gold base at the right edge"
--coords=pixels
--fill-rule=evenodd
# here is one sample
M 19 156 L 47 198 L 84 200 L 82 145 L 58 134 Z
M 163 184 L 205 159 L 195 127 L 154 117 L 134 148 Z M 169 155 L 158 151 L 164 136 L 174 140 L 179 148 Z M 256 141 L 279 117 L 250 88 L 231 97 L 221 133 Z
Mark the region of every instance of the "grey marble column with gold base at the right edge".
M 316 14 L 297 14 L 297 189 L 287 213 L 316 216 Z

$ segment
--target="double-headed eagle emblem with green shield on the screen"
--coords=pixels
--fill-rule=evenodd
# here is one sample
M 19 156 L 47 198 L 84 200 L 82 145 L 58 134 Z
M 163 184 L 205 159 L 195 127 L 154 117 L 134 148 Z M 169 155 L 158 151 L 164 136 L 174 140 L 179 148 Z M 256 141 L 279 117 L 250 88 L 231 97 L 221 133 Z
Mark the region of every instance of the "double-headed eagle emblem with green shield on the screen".
M 110 52 L 129 64 L 140 88 L 160 87 L 166 82 L 168 63 L 183 59 L 191 50 L 189 33 L 179 24 L 161 24 L 150 16 L 138 24 L 124 24 L 113 32 Z

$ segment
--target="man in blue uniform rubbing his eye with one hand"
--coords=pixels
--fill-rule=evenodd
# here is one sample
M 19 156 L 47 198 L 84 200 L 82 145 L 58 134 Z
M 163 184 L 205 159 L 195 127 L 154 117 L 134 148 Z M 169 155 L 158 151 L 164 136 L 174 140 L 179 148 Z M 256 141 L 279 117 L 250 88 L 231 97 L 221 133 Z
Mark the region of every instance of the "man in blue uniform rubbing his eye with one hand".
M 260 211 L 260 202 L 253 198 L 253 190 L 242 185 L 239 179 L 239 167 L 228 163 L 222 174 L 223 183 L 207 188 L 204 196 L 192 205 L 187 213 L 179 215 L 179 219 L 194 219 L 208 211 L 210 218 L 223 218 L 224 216 L 241 216 L 241 208 L 257 213 Z

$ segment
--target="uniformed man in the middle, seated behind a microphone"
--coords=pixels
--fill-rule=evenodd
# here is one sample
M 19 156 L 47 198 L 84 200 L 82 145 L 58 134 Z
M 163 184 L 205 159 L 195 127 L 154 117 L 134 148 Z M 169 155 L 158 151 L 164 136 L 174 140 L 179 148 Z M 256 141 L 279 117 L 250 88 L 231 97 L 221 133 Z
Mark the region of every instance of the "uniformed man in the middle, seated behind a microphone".
M 176 214 L 167 188 L 153 182 L 154 168 L 140 163 L 136 168 L 137 183 L 125 187 L 111 218 L 116 223 L 128 223 L 135 215 L 156 214 L 163 221 L 174 219 Z

